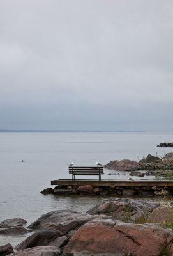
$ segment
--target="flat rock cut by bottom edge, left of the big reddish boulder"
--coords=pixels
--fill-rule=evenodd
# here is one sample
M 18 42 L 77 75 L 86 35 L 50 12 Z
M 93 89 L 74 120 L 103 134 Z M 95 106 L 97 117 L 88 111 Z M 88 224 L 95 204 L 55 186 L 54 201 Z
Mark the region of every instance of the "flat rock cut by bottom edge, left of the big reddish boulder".
M 26 250 L 20 250 L 12 255 L 15 256 L 59 256 L 60 250 L 54 246 L 39 246 L 34 248 L 28 248 Z

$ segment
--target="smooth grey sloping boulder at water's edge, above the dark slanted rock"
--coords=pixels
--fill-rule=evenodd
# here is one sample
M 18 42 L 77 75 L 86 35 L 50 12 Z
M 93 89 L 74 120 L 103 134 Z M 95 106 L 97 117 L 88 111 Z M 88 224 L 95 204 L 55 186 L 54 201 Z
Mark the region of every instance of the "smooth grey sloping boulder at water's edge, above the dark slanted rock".
M 71 210 L 57 210 L 44 214 L 38 220 L 34 221 L 28 228 L 33 230 L 45 227 L 54 227 L 56 230 L 66 235 L 70 230 L 74 230 L 87 221 L 93 219 L 93 216 L 85 215 Z

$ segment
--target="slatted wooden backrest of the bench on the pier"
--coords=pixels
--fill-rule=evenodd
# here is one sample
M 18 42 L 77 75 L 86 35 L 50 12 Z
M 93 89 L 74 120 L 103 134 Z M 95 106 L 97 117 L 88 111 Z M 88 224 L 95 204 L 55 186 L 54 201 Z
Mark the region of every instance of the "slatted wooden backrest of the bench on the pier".
M 103 173 L 103 166 L 69 166 L 69 173 Z

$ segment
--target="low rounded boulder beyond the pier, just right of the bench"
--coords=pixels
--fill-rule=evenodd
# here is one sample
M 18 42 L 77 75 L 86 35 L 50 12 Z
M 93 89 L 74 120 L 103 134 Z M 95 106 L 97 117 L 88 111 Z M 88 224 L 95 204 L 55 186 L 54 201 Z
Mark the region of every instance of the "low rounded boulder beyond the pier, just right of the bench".
M 106 169 L 117 170 L 117 171 L 137 171 L 142 170 L 142 167 L 136 161 L 125 160 L 113 160 L 104 166 Z

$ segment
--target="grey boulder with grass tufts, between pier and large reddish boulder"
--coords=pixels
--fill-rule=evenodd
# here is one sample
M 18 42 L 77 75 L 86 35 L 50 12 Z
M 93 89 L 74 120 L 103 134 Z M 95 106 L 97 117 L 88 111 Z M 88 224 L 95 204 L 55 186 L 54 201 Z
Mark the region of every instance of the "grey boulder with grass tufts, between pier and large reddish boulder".
M 117 220 L 137 220 L 140 216 L 149 214 L 158 205 L 157 203 L 154 204 L 140 200 L 116 198 L 96 205 L 87 213 L 91 215 L 105 214 Z

